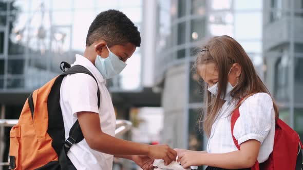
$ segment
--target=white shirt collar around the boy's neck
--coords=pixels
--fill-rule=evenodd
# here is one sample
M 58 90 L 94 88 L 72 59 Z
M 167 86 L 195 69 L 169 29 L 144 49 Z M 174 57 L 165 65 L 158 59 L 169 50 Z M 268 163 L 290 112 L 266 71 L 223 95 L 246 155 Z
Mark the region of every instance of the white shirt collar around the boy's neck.
M 103 78 L 102 74 L 99 72 L 99 70 L 88 60 L 82 55 L 76 54 L 75 55 L 75 62 L 71 65 L 81 65 L 87 68 L 99 82 L 105 82 L 105 79 Z

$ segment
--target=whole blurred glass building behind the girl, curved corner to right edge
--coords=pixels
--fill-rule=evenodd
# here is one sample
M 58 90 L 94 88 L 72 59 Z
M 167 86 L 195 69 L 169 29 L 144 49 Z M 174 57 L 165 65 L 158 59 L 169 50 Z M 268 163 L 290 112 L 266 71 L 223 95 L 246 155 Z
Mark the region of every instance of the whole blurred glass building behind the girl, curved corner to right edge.
M 196 124 L 202 108 L 202 88 L 191 68 L 197 47 L 207 38 L 219 35 L 230 35 L 242 45 L 276 98 L 280 117 L 302 135 L 301 3 L 298 0 L 158 1 L 155 80 L 162 88 L 164 143 L 205 150 L 207 138 L 200 135 Z M 286 4 L 293 4 L 295 9 Z M 282 34 L 287 36 L 285 39 L 281 39 L 281 28 L 285 29 Z

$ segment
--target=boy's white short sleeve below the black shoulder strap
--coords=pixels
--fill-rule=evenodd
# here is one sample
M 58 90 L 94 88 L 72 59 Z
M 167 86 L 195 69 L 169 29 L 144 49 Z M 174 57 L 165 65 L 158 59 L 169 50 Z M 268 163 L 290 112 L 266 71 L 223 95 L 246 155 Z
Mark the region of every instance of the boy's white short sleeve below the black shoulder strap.
M 78 112 L 99 113 L 98 108 L 98 84 L 90 75 L 77 73 L 68 75 L 67 101 L 73 116 L 77 117 Z

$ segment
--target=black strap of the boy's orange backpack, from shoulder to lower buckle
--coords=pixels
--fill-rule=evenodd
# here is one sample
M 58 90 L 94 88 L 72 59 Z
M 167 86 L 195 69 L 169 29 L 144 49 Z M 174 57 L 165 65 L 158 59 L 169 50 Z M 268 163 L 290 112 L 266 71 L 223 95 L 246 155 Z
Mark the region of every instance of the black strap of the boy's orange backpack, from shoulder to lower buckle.
M 61 67 L 62 63 L 64 63 L 63 68 Z M 63 71 L 63 73 L 60 76 L 66 76 L 69 74 L 77 74 L 77 73 L 84 73 L 84 74 L 88 74 L 90 75 L 97 83 L 98 86 L 98 81 L 97 79 L 91 74 L 91 72 L 89 70 L 87 70 L 85 67 L 81 66 L 81 65 L 75 65 L 70 67 L 69 63 L 67 62 L 61 62 L 60 65 L 60 69 Z M 65 69 L 68 68 L 67 71 L 65 71 Z M 100 109 L 100 90 L 98 88 L 97 91 L 97 96 L 98 96 L 98 108 Z M 72 125 L 70 131 L 69 131 L 69 137 L 65 140 L 64 142 L 64 146 L 59 154 L 59 161 L 61 164 L 61 169 L 67 169 L 67 152 L 70 150 L 70 147 L 74 144 L 74 143 L 79 143 L 80 141 L 82 141 L 84 139 L 80 124 L 78 119 L 74 122 L 74 124 Z

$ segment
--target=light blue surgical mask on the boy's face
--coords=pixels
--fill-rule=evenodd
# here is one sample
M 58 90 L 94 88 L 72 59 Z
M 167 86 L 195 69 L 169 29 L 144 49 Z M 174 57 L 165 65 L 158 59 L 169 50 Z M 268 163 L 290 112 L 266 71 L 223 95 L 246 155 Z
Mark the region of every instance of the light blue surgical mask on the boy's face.
M 96 68 L 102 74 L 105 79 L 112 78 L 113 76 L 121 73 L 126 67 L 126 63 L 121 61 L 116 54 L 113 54 L 106 45 L 108 50 L 108 57 L 102 58 L 97 55 L 96 61 L 94 62 Z

